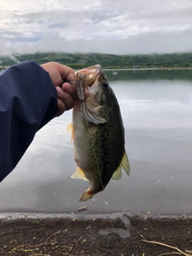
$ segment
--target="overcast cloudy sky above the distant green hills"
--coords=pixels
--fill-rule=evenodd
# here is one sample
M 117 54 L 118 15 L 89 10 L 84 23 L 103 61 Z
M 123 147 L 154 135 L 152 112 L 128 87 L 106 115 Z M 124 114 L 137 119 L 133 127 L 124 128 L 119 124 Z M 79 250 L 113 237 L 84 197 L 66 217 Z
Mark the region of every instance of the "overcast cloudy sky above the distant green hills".
M 192 0 L 0 0 L 0 54 L 192 51 Z

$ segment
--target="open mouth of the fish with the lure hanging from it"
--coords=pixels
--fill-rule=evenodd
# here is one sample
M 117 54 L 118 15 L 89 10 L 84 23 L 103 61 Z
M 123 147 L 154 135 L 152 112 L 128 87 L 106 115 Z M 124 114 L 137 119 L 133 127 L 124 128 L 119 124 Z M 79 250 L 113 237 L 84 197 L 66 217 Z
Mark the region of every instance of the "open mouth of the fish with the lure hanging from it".
M 85 69 L 78 70 L 75 73 L 75 88 L 80 101 L 83 102 L 85 100 L 86 88 L 91 87 L 101 74 L 102 66 L 99 64 L 86 67 Z

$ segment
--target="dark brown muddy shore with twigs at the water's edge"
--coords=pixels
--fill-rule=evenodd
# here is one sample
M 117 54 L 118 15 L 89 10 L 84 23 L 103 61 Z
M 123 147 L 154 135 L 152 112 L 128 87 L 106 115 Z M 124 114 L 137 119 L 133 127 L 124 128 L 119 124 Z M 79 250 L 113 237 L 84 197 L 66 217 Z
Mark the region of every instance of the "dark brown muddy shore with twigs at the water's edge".
M 4 219 L 0 255 L 192 256 L 192 218 L 116 217 Z

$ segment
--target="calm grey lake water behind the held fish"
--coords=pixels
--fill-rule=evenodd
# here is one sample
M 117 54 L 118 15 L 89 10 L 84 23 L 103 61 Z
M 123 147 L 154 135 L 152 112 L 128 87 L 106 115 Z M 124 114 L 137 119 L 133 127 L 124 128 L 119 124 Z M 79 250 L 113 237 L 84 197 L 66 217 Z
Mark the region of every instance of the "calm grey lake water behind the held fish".
M 130 176 L 78 202 L 88 182 L 76 164 L 66 126 L 71 111 L 36 134 L 0 184 L 0 212 L 192 214 L 192 70 L 105 71 L 126 130 Z

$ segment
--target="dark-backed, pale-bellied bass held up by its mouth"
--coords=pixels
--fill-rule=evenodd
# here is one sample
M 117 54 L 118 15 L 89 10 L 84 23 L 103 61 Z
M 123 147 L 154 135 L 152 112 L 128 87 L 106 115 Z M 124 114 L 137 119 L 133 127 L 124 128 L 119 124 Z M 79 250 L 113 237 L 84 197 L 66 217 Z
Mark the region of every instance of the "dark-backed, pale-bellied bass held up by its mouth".
M 125 150 L 125 129 L 114 91 L 99 64 L 75 73 L 78 100 L 74 104 L 70 129 L 77 170 L 71 178 L 90 182 L 79 202 L 104 190 L 110 179 L 130 174 Z

